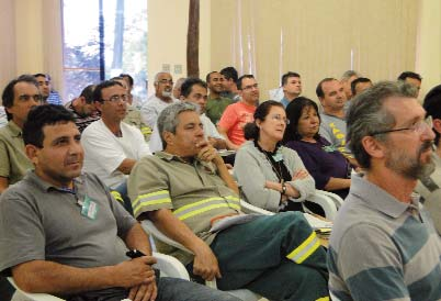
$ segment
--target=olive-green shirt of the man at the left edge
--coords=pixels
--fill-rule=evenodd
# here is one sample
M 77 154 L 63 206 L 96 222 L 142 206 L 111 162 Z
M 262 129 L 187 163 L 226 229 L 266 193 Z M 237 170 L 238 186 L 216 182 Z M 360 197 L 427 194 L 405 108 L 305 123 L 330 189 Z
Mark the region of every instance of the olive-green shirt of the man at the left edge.
M 11 120 L 0 129 L 0 177 L 9 185 L 20 181 L 34 166 L 24 154 L 22 130 Z

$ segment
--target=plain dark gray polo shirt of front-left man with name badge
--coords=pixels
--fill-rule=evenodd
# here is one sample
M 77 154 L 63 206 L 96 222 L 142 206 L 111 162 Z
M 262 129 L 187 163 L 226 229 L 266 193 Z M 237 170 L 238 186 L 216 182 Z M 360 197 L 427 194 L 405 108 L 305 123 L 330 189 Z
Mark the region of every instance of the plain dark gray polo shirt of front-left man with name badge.
M 136 223 L 94 175 L 75 179 L 75 193 L 43 181 L 33 171 L 0 199 L 0 271 L 30 260 L 89 268 L 127 260 L 125 237 Z M 97 205 L 95 219 L 81 203 Z M 118 237 L 120 236 L 120 237 Z

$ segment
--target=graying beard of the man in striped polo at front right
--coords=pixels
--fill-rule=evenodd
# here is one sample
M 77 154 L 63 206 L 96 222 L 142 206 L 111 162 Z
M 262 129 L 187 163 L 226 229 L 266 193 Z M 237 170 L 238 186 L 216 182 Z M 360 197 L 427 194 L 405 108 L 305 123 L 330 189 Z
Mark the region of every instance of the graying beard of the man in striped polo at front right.
M 398 175 L 411 180 L 419 180 L 429 177 L 434 171 L 434 163 L 429 157 L 422 160 L 422 155 L 433 147 L 432 141 L 426 141 L 417 150 L 416 156 L 410 157 L 400 148 L 399 152 L 389 150 L 386 154 L 386 167 L 394 170 Z M 394 147 L 395 148 L 395 147 Z M 395 148 L 397 149 L 397 148 Z

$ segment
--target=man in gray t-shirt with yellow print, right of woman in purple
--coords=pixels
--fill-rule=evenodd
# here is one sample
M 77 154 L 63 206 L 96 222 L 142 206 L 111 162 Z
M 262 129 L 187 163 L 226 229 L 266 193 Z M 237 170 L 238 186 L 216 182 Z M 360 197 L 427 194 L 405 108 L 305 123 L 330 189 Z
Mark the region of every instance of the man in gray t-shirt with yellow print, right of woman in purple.
M 353 159 L 346 143 L 343 86 L 335 78 L 325 78 L 318 82 L 316 93 L 324 109 L 320 115 L 320 135 L 344 157 Z

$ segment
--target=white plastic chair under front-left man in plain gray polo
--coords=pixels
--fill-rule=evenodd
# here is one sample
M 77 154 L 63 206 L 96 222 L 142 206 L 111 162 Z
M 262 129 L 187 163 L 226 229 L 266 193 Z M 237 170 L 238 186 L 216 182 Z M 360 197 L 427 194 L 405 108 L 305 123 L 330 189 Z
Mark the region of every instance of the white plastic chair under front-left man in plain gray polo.
M 183 280 L 190 280 L 189 272 L 185 267 L 179 261 L 177 258 L 160 254 L 152 253 L 154 257 L 157 259 L 157 263 L 154 265 L 155 268 L 161 271 L 161 277 L 173 277 L 180 278 Z M 9 282 L 16 289 L 15 293 L 20 293 L 20 297 L 14 297 L 14 299 L 19 300 L 32 300 L 32 301 L 64 301 L 58 297 L 48 294 L 48 293 L 30 293 L 21 290 L 16 285 L 12 277 L 8 277 Z M 24 298 L 23 298 L 24 297 Z

